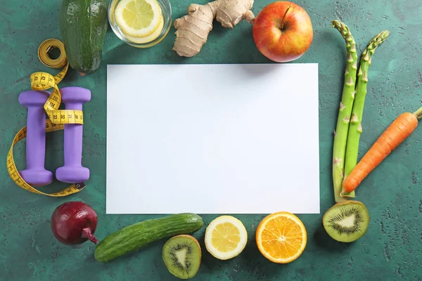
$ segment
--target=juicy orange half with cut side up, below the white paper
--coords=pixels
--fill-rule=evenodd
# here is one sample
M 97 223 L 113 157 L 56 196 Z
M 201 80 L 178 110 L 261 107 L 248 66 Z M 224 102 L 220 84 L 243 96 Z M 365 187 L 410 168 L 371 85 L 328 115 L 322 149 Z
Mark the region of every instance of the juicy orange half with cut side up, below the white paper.
M 306 247 L 307 235 L 302 221 L 286 211 L 264 218 L 257 228 L 257 247 L 274 263 L 298 259 Z

